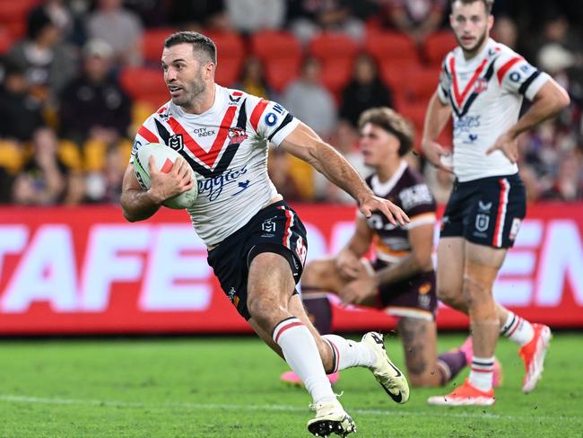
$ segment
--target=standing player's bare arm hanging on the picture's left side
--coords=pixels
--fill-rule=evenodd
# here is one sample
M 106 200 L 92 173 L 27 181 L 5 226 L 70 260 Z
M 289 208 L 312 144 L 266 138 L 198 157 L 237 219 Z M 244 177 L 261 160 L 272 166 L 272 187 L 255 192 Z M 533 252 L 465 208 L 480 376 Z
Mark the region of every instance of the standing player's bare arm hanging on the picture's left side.
M 451 107 L 448 103 L 441 101 L 439 91 L 434 92 L 427 107 L 423 123 L 422 149 L 425 158 L 443 171 L 453 171 L 453 169 L 451 166 L 441 162 L 441 157 L 448 155 L 448 151 L 439 145 L 436 140 L 443 128 L 448 124 L 449 118 L 451 118 Z

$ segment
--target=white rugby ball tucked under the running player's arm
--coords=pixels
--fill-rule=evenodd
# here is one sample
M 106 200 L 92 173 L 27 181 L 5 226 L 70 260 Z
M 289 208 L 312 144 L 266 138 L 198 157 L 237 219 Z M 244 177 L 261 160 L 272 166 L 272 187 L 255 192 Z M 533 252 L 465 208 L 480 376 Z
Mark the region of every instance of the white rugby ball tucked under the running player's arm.
M 152 180 L 150 180 L 150 166 L 148 165 L 151 156 L 154 158 L 156 169 L 167 173 L 170 172 L 174 162 L 180 157 L 180 154 L 169 146 L 160 143 L 149 143 L 140 146 L 134 155 L 134 171 L 135 177 L 144 190 L 150 188 L 152 184 Z M 195 206 L 196 197 L 198 196 L 198 185 L 196 184 L 195 174 L 192 170 L 191 175 L 192 180 L 195 181 L 193 187 L 184 193 L 166 199 L 162 203 L 163 206 L 177 210 Z

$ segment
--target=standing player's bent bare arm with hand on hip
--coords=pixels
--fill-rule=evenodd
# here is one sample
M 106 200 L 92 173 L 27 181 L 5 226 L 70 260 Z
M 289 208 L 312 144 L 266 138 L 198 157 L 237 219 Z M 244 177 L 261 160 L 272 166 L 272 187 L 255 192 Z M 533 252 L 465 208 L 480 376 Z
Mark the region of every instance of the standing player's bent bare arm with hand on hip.
M 486 153 L 492 153 L 500 149 L 509 158 L 510 162 L 517 162 L 518 136 L 547 118 L 553 118 L 559 114 L 561 109 L 569 106 L 570 98 L 565 89 L 549 76 L 544 85 L 536 92 L 532 102 L 531 107 L 521 118 L 518 118 L 517 123 L 498 137 L 494 145 Z

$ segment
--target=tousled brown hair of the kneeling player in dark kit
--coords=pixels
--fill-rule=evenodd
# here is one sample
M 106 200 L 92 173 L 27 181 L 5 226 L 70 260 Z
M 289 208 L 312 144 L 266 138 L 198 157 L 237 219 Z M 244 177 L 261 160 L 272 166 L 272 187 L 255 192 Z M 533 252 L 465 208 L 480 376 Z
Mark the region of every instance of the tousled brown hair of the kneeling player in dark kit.
M 359 129 L 362 129 L 367 123 L 380 127 L 399 139 L 398 154 L 400 157 L 411 150 L 414 137 L 413 126 L 395 109 L 388 107 L 367 109 L 358 119 Z

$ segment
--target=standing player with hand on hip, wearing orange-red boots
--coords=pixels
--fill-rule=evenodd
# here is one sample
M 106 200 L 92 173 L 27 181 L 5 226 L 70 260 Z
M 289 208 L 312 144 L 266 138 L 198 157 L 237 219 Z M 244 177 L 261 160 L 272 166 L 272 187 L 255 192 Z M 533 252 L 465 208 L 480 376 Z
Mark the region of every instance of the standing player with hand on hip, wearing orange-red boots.
M 493 0 L 453 0 L 449 22 L 458 47 L 445 57 L 425 117 L 422 147 L 435 166 L 453 171 L 454 189 L 438 245 L 439 299 L 470 317 L 474 357 L 469 379 L 435 405 L 492 405 L 492 371 L 498 337 L 520 346 L 535 389 L 551 330 L 531 324 L 496 303 L 492 285 L 526 215 L 518 176 L 518 135 L 569 104 L 567 93 L 510 48 L 489 38 Z M 526 97 L 530 109 L 518 118 Z M 453 111 L 453 168 L 435 142 Z

